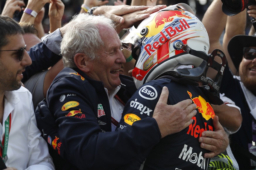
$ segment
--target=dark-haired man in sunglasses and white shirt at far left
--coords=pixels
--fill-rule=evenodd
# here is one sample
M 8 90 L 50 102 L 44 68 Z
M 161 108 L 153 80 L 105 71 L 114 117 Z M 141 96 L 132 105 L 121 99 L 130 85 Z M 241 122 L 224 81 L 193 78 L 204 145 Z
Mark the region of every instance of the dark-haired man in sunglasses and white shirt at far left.
M 31 93 L 21 86 L 23 72 L 32 63 L 24 31 L 8 16 L 0 15 L 0 25 L 0 159 L 16 169 L 54 169 L 37 128 Z

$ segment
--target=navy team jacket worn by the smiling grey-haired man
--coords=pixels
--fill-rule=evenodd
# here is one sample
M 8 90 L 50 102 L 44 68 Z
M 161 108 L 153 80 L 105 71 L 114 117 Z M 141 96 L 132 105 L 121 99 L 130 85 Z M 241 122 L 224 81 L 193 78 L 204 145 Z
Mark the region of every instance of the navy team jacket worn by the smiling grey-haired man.
M 135 86 L 133 81 L 120 77 L 122 87 L 117 94 L 126 102 Z M 79 69 L 66 67 L 57 75 L 48 90 L 46 105 L 56 120 L 58 133 L 52 134 L 37 116 L 38 127 L 50 147 L 78 169 L 116 169 L 161 138 L 155 119 L 150 117 L 110 132 L 111 111 L 103 83 L 89 79 Z M 39 107 L 41 112 L 46 108 L 44 104 Z

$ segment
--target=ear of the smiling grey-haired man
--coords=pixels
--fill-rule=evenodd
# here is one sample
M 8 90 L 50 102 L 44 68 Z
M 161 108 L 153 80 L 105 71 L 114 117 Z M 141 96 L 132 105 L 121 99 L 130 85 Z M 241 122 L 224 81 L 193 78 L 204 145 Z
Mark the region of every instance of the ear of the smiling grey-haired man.
M 85 55 L 84 53 L 77 53 L 74 56 L 74 62 L 77 65 L 77 68 L 79 68 L 79 70 L 83 71 L 83 72 L 89 72 L 90 69 L 88 67 L 88 61 L 89 61 L 89 57 L 87 55 Z

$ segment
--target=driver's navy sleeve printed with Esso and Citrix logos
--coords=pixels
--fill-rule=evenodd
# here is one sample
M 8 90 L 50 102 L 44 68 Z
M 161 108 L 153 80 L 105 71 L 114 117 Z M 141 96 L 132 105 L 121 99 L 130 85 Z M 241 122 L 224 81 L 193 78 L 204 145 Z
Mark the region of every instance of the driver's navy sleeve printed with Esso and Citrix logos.
M 152 117 L 161 91 L 162 86 L 155 82 L 148 82 L 141 86 L 126 103 L 116 130 L 126 130 L 126 128 L 133 126 L 133 123 Z M 151 149 L 152 147 L 144 150 L 133 161 L 119 167 L 119 169 L 139 169 Z

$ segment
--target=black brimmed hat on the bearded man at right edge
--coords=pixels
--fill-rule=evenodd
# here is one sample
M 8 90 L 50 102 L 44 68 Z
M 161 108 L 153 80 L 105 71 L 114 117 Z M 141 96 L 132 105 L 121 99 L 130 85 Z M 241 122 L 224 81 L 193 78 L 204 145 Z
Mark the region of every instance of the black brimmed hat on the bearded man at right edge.
M 250 35 L 236 35 L 228 42 L 228 54 L 233 61 L 236 70 L 243 59 L 243 48 L 244 47 L 256 47 L 256 33 L 253 36 Z

